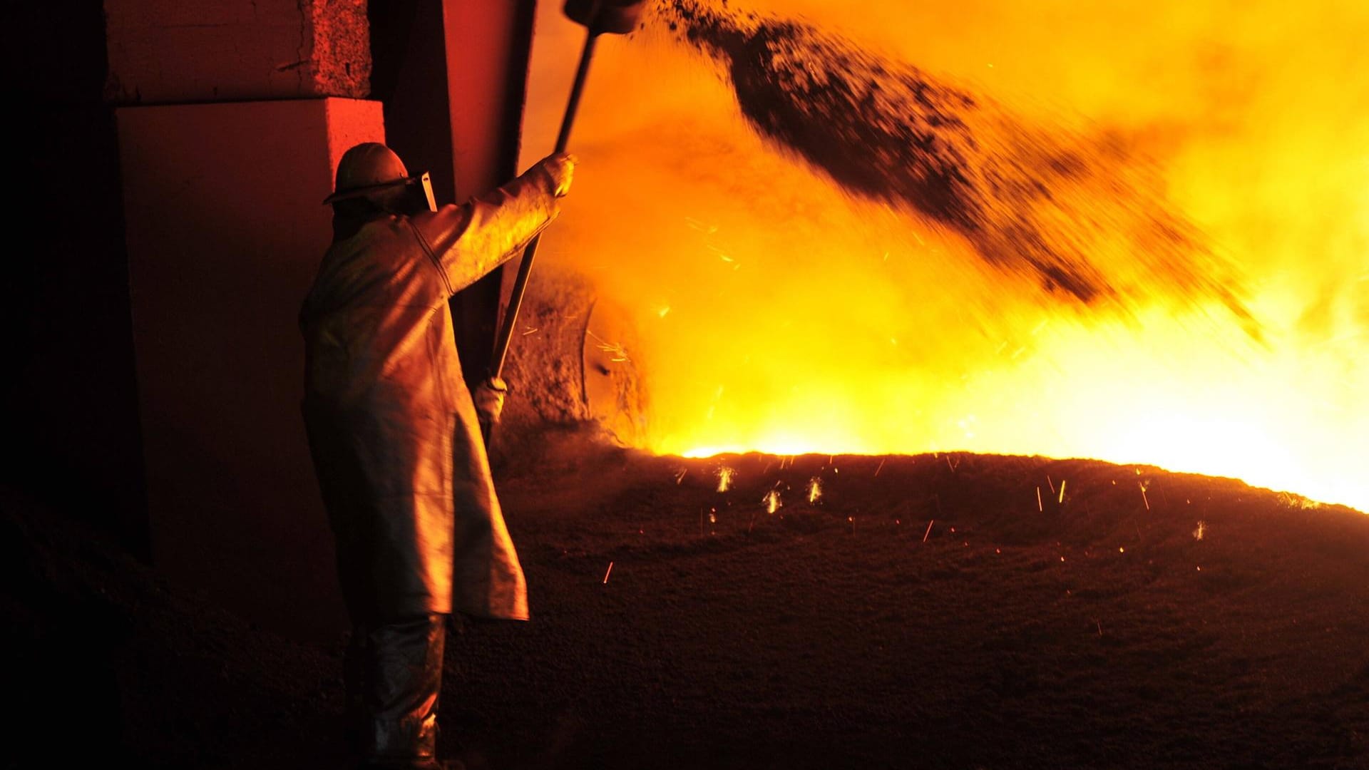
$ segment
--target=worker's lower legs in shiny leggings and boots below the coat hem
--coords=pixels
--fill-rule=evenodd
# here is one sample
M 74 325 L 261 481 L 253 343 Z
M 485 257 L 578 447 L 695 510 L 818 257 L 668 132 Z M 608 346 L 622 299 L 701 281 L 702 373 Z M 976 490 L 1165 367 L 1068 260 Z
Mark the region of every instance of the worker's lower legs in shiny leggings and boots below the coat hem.
M 361 658 L 357 749 L 363 767 L 446 767 L 435 759 L 445 623 L 445 615 L 434 614 L 355 632 L 364 636 L 352 645 Z

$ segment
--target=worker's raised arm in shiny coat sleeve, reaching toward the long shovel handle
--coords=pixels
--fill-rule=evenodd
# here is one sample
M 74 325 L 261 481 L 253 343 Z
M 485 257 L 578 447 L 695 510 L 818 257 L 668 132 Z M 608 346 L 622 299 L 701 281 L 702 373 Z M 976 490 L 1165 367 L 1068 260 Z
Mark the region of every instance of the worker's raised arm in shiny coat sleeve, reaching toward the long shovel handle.
M 413 216 L 453 295 L 522 253 L 560 212 L 574 170 L 572 155 L 550 155 L 490 193 Z

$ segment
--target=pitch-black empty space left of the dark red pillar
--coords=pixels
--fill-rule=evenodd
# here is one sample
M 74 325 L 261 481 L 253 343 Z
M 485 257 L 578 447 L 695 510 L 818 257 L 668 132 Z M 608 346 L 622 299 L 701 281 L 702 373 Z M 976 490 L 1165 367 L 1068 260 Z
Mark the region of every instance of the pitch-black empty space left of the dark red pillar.
M 5 3 L 3 480 L 149 558 L 104 7 Z

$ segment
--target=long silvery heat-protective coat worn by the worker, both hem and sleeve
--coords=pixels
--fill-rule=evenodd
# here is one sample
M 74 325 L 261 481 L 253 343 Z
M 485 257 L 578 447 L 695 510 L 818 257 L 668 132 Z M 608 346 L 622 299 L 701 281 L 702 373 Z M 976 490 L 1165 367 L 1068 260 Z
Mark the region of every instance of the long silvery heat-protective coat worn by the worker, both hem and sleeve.
M 353 619 L 527 619 L 448 300 L 557 214 L 542 164 L 334 240 L 304 308 L 304 421 Z M 455 580 L 453 580 L 455 573 Z

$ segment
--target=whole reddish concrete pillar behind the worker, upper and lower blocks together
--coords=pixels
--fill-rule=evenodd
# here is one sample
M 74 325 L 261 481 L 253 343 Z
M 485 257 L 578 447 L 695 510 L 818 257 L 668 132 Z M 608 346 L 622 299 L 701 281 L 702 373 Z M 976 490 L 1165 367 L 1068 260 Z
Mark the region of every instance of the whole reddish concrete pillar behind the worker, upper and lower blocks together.
M 345 628 L 296 323 L 342 152 L 385 141 L 364 0 L 107 0 L 152 560 L 301 638 Z

